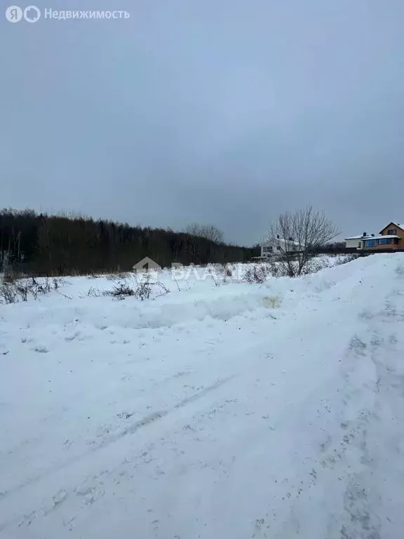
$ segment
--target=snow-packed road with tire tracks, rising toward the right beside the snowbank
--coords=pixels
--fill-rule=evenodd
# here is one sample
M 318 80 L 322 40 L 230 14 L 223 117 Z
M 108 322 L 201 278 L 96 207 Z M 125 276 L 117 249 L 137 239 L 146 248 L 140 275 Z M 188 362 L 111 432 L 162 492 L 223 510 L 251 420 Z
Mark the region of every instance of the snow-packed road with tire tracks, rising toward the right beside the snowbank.
M 0 500 L 10 515 L 1 538 L 104 539 L 119 530 L 125 539 L 399 539 L 399 272 L 396 279 L 359 319 L 352 297 L 371 287 L 356 285 L 341 305 L 330 291 L 334 318 L 306 320 L 300 311 L 288 331 L 237 350 L 203 389 L 156 406 L 68 463 L 56 460 Z M 316 343 L 322 331 L 335 342 Z

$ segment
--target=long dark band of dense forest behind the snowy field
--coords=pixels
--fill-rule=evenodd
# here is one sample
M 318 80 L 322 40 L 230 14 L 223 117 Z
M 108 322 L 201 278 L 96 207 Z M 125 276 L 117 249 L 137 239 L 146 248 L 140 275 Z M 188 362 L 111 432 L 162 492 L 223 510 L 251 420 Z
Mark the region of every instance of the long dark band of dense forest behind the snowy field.
M 0 211 L 0 269 L 36 275 L 130 271 L 148 256 L 161 267 L 173 262 L 235 262 L 260 254 L 189 232 L 132 227 L 107 220 Z

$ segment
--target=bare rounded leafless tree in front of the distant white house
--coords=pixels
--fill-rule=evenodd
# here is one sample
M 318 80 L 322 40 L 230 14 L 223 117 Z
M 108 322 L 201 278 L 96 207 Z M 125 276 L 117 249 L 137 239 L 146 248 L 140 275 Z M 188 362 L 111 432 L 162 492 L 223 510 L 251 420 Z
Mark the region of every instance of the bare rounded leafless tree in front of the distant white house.
M 283 274 L 289 277 L 307 272 L 314 249 L 323 246 L 341 233 L 323 211 L 312 206 L 297 209 L 294 213 L 281 213 L 269 229 L 280 256 Z

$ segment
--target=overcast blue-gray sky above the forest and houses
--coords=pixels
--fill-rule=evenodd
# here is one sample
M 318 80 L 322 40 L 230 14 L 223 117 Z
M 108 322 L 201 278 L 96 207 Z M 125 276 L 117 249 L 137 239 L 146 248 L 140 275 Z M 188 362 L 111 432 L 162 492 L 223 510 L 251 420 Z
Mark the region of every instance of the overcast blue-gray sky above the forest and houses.
M 240 244 L 306 204 L 343 235 L 404 223 L 403 0 L 35 4 L 130 18 L 2 4 L 0 206 Z

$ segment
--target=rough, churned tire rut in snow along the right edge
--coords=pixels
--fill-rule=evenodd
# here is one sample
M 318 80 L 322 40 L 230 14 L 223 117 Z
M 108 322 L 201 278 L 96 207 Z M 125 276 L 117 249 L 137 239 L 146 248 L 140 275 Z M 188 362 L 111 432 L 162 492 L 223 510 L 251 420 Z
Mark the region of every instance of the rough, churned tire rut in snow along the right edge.
M 367 393 L 369 406 L 361 409 L 356 434 L 351 433 L 349 437 L 354 451 L 358 451 L 356 460 L 359 462 L 351 463 L 348 468 L 352 471 L 346 477 L 344 513 L 334 518 L 341 523 L 340 539 L 398 539 L 398 530 L 404 526 L 402 511 L 395 507 L 402 495 L 404 479 L 404 465 L 397 467 L 397 456 L 402 460 L 400 455 L 404 451 L 404 434 L 398 428 L 404 422 L 404 369 L 401 373 L 397 371 L 402 357 L 394 331 L 404 320 L 394 296 L 403 293 L 402 288 L 397 288 L 386 297 L 383 310 L 376 314 L 363 313 L 362 319 L 368 327 L 363 337 L 356 336 L 351 342 L 357 362 L 372 362 L 375 379 L 358 389 L 351 383 L 358 378 L 358 366 L 352 366 L 346 375 L 350 386 L 346 405 Z M 400 330 L 402 333 L 403 327 Z M 389 462 L 393 464 L 386 465 Z M 334 537 L 337 533 L 330 535 Z

